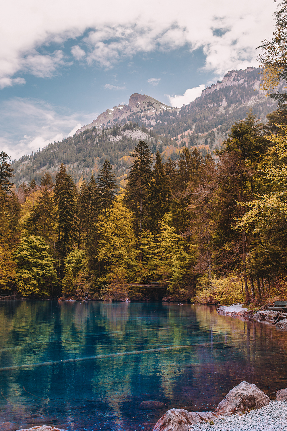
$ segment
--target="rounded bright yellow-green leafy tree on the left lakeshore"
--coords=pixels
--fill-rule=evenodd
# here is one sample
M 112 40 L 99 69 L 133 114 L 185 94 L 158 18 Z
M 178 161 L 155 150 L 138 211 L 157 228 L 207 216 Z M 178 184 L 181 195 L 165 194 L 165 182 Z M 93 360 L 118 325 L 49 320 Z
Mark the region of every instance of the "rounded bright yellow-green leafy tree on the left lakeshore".
M 16 287 L 24 295 L 47 296 L 56 284 L 52 250 L 43 238 L 24 237 L 13 253 L 16 263 Z

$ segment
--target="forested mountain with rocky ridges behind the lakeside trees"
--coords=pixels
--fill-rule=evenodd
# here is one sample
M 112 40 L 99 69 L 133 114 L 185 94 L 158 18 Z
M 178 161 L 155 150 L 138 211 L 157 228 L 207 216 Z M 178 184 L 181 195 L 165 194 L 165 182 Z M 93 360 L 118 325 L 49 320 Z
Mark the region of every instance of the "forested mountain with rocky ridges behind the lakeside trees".
M 42 151 L 14 160 L 15 184 L 40 178 L 45 170 L 56 176 L 60 163 L 77 182 L 89 181 L 105 159 L 114 166 L 118 184 L 123 186 L 139 139 L 157 150 L 163 160 L 179 158 L 182 147 L 197 146 L 205 155 L 220 148 L 235 121 L 244 119 L 252 108 L 261 122 L 276 109 L 272 99 L 259 90 L 260 69 L 232 70 L 222 81 L 207 87 L 194 102 L 173 109 L 145 94 L 132 94 L 128 105 L 114 106 L 74 136 L 49 144 Z

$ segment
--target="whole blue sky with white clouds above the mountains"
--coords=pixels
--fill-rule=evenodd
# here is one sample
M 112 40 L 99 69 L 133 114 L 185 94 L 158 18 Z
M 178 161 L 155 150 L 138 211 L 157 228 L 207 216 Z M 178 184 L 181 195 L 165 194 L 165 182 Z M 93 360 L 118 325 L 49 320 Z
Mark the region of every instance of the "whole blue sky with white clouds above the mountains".
M 59 141 L 133 93 L 182 106 L 259 66 L 273 0 L 10 0 L 0 15 L 0 148 Z

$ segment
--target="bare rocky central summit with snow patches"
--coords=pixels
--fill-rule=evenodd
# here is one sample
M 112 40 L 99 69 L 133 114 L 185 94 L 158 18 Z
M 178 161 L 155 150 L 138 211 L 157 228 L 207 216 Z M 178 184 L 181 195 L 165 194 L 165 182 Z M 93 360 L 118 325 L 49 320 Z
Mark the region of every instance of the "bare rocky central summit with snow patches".
M 92 123 L 78 129 L 76 134 L 94 126 L 101 127 L 107 126 L 109 124 L 112 125 L 115 122 L 120 122 L 121 120 L 127 118 L 127 116 L 133 114 L 133 112 L 135 114 L 146 113 L 148 115 L 155 115 L 156 110 L 162 112 L 166 109 L 172 109 L 172 107 L 166 105 L 165 103 L 159 102 L 158 100 L 147 96 L 146 94 L 134 93 L 131 95 L 128 105 L 118 105 L 114 106 L 112 109 L 107 109 Z

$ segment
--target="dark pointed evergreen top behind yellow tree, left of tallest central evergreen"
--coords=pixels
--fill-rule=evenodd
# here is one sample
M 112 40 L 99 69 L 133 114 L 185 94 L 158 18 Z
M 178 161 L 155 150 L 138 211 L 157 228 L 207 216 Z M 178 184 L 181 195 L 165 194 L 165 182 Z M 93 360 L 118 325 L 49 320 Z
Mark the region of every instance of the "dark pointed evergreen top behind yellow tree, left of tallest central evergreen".
M 102 201 L 102 210 L 105 215 L 111 207 L 111 204 L 116 196 L 115 190 L 118 188 L 116 185 L 116 176 L 113 171 L 113 166 L 106 159 L 103 163 L 102 169 L 100 169 L 100 175 L 98 177 L 98 187 Z

